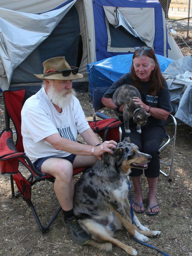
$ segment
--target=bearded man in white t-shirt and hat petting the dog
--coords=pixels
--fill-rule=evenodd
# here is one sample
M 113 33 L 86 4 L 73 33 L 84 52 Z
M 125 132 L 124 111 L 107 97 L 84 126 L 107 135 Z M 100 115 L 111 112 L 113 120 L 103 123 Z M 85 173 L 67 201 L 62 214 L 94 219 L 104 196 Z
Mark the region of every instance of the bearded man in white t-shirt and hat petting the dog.
M 83 77 L 77 67 L 70 67 L 65 57 L 43 62 L 42 88 L 25 101 L 21 132 L 26 155 L 35 168 L 55 177 L 54 191 L 64 213 L 64 225 L 71 239 L 85 244 L 88 235 L 80 229 L 73 213 L 73 169 L 91 166 L 104 152 L 113 154 L 117 143 L 100 144 L 85 119 L 82 107 L 72 89 L 72 80 Z M 80 134 L 87 144 L 77 142 Z

